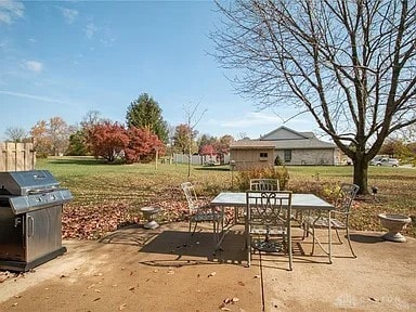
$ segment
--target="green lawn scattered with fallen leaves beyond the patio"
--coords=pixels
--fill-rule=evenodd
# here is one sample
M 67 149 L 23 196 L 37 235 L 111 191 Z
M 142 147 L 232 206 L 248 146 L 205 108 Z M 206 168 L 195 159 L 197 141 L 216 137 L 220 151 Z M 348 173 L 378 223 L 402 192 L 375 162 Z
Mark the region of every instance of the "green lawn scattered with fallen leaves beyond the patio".
M 181 220 L 186 206 L 180 183 L 192 181 L 205 198 L 232 190 L 233 176 L 227 166 L 191 168 L 186 165 L 133 164 L 106 165 L 90 157 L 51 157 L 39 159 L 37 169 L 50 170 L 68 187 L 74 200 L 64 209 L 67 237 L 96 238 L 122 223 L 140 221 L 139 207 L 158 205 L 164 208 L 160 221 Z M 336 185 L 352 181 L 352 166 L 287 167 L 288 188 L 310 192 L 332 200 Z M 395 212 L 416 214 L 416 169 L 369 167 L 368 185 L 376 185 L 376 198 L 355 200 L 351 225 L 355 230 L 385 231 L 377 214 Z M 364 198 L 363 198 L 364 199 Z M 108 221 L 109 220 L 109 221 Z M 415 224 L 406 235 L 416 237 Z

